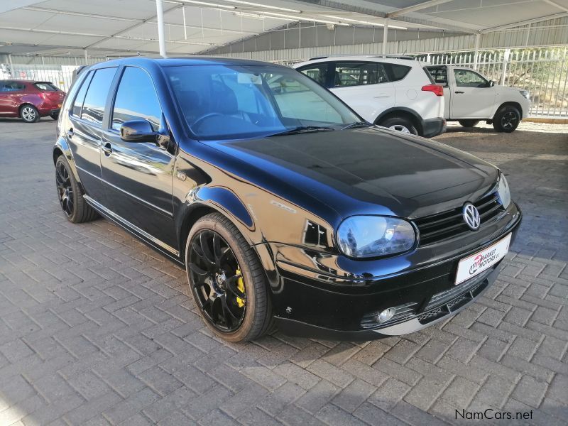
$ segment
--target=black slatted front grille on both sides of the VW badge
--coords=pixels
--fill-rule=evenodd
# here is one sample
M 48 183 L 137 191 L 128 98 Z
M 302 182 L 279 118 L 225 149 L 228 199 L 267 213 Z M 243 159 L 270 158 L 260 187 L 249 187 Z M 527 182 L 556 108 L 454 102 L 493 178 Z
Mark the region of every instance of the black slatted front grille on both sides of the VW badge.
M 493 194 L 487 195 L 473 204 L 478 209 L 481 217 L 480 229 L 505 211 L 499 201 L 497 192 L 493 192 Z M 420 217 L 420 219 L 415 219 L 415 224 L 420 231 L 420 246 L 427 246 L 428 244 L 434 244 L 466 232 L 472 232 L 464 222 L 461 207 L 427 217 Z

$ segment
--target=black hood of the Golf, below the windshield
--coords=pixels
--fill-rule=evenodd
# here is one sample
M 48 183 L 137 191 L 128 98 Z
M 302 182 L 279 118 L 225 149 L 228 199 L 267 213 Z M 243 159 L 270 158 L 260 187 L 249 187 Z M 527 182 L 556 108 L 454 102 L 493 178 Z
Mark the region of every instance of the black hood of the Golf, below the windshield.
M 299 182 L 305 187 L 297 189 L 312 196 L 318 197 L 310 184 L 315 180 L 359 200 L 359 214 L 373 212 L 377 204 L 409 218 L 451 209 L 472 195 L 481 196 L 498 173 L 493 165 L 442 143 L 374 127 L 215 144 L 237 157 L 253 155 L 255 165 L 275 180 L 282 177 L 279 168 L 302 175 L 305 179 Z M 347 214 L 342 212 L 342 197 L 329 191 L 322 196 L 322 202 Z

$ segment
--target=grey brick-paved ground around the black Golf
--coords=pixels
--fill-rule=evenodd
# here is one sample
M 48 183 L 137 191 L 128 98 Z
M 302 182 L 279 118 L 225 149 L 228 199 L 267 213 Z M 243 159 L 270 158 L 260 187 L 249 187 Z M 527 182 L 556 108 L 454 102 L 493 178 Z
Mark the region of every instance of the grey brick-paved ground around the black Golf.
M 568 126 L 439 138 L 503 168 L 525 222 L 478 303 L 364 344 L 214 339 L 180 268 L 104 220 L 67 223 L 54 133 L 0 121 L 0 425 L 421 426 L 486 408 L 566 424 Z

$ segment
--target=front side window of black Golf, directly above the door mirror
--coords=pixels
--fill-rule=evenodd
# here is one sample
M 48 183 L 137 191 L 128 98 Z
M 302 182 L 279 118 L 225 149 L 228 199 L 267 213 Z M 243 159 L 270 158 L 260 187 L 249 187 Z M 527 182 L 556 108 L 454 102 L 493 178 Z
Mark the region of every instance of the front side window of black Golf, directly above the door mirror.
M 141 68 L 126 67 L 116 92 L 112 128 L 120 130 L 124 121 L 147 120 L 157 131 L 161 115 L 162 109 L 150 75 Z

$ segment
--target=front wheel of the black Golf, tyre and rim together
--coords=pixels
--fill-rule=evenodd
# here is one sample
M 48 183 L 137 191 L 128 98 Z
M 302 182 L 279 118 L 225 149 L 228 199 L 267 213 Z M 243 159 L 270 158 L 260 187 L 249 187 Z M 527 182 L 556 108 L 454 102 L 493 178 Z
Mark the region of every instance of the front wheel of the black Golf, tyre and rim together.
M 217 240 L 220 241 L 218 243 L 219 251 L 222 250 L 220 249 L 221 247 L 226 246 L 232 253 L 223 254 L 222 256 L 214 254 L 216 250 L 212 239 L 215 235 L 218 238 L 220 237 L 220 240 Z M 207 241 L 210 241 L 210 244 Z M 208 248 L 205 249 L 205 247 Z M 214 258 L 214 261 L 210 260 L 210 256 Z M 219 293 L 223 293 L 222 283 L 219 283 L 218 279 L 219 271 L 222 271 L 223 277 L 226 277 L 229 273 L 233 274 L 233 271 L 226 271 L 231 266 L 226 267 L 223 263 L 224 261 L 218 262 L 217 259 L 219 257 L 224 258 L 227 261 L 227 265 L 229 265 L 230 256 L 234 256 L 233 260 L 236 261 L 235 273 L 241 271 L 242 281 L 240 285 L 244 285 L 243 293 L 245 296 L 244 314 L 239 318 L 240 322 L 236 329 L 229 329 L 229 327 L 224 329 L 225 324 L 228 324 L 228 322 L 224 322 L 223 319 L 219 320 L 219 305 L 222 305 L 221 312 L 225 317 L 227 317 L 225 307 L 229 312 L 233 314 L 235 312 L 234 309 L 231 310 L 229 308 L 229 303 L 231 303 L 230 306 L 232 307 L 239 306 L 235 303 L 236 293 L 231 295 L 228 285 L 228 281 L 238 274 L 226 280 L 224 290 L 225 305 L 223 305 L 222 295 L 219 296 Z M 220 267 L 219 263 L 221 263 Z M 195 222 L 185 244 L 185 265 L 187 283 L 190 285 L 190 291 L 195 304 L 201 312 L 204 323 L 214 334 L 228 342 L 249 342 L 261 337 L 273 328 L 272 305 L 268 295 L 268 285 L 263 267 L 255 251 L 229 219 L 220 213 L 211 213 Z M 214 285 L 217 290 L 214 290 Z M 213 301 L 211 301 L 212 297 L 215 297 Z M 217 309 L 214 308 L 216 303 Z M 236 309 L 239 310 L 239 307 Z M 217 317 L 212 315 L 212 312 L 213 314 L 216 313 Z M 230 322 L 232 323 L 233 321 L 231 317 Z

